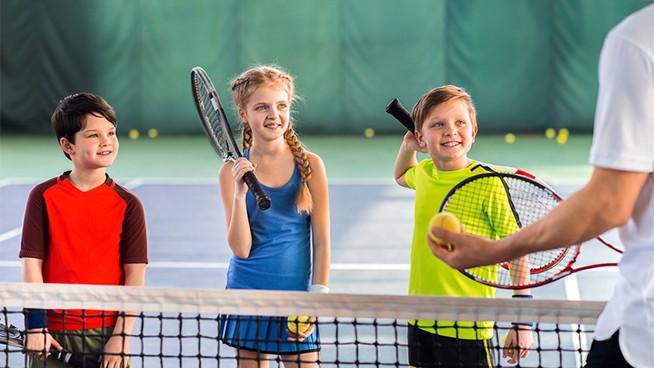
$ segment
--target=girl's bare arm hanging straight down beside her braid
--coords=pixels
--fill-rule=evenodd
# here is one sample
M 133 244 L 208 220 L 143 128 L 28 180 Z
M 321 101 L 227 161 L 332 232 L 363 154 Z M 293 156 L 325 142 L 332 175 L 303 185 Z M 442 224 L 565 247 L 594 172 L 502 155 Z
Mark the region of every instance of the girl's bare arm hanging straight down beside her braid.
M 313 199 L 311 214 L 311 234 L 313 239 L 313 279 L 312 285 L 329 286 L 329 264 L 331 257 L 331 240 L 329 236 L 329 191 L 327 173 L 322 159 L 307 152 L 312 174 L 309 190 Z

